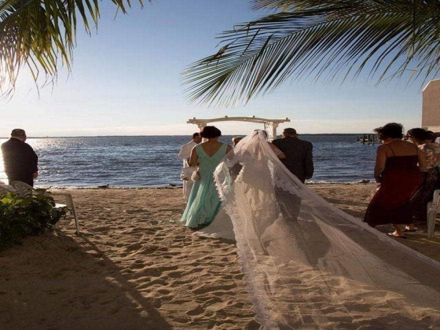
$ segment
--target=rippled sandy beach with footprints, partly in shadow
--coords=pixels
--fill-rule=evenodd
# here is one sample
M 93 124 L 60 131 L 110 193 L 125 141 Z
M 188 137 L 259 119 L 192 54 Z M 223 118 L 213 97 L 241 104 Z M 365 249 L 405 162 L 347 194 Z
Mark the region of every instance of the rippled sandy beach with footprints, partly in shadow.
M 361 218 L 376 185 L 309 187 Z M 0 253 L 1 329 L 259 327 L 235 245 L 178 222 L 181 188 L 63 191 L 73 196 L 81 235 L 69 218 Z M 432 239 L 419 225 L 399 242 L 440 261 L 438 227 Z

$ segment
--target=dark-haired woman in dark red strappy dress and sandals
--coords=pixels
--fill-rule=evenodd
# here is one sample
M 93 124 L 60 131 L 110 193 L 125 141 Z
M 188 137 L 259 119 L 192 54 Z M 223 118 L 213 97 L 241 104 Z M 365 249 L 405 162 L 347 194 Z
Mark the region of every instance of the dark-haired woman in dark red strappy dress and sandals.
M 364 221 L 374 227 L 392 223 L 388 235 L 406 238 L 402 224 L 412 223 L 410 198 L 421 181 L 425 159 L 413 143 L 402 140 L 402 125 L 390 122 L 375 128 L 382 145 L 377 147 L 374 178 L 380 183 L 365 213 Z

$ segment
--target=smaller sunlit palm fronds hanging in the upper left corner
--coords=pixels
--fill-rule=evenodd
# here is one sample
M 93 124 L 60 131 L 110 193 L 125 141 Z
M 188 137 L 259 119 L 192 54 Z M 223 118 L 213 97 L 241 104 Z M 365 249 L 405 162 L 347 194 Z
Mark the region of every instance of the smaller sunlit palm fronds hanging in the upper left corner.
M 110 0 L 122 11 L 130 0 Z M 142 0 L 138 0 L 142 5 Z M 34 80 L 43 72 L 56 77 L 59 65 L 70 70 L 77 22 L 90 33 L 99 18 L 98 0 L 0 0 L 0 90 L 14 89 L 18 72 L 28 67 Z

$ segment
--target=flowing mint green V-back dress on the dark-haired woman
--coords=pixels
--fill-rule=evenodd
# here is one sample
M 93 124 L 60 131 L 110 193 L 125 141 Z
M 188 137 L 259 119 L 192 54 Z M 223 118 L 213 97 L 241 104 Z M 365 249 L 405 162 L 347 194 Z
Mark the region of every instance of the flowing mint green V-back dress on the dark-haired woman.
M 226 150 L 227 144 L 222 143 L 212 156 L 208 156 L 200 144 L 195 146 L 200 179 L 192 185 L 188 203 L 180 219 L 185 226 L 196 228 L 208 224 L 220 209 L 221 201 L 215 187 L 213 172 L 225 156 Z

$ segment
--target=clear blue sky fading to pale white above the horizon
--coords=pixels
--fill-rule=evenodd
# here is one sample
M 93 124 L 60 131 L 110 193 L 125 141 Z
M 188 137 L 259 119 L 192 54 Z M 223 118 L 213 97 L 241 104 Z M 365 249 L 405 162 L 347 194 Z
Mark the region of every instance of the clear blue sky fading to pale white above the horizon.
M 108 1 L 109 2 L 109 1 Z M 421 124 L 420 82 L 375 86 L 355 82 L 286 83 L 233 108 L 188 104 L 181 72 L 215 52 L 217 33 L 261 15 L 247 0 L 154 0 L 128 14 L 100 2 L 97 33 L 79 25 L 72 73 L 37 89 L 25 70 L 8 101 L 0 101 L 0 136 L 20 127 L 28 136 L 181 135 L 196 131 L 188 118 L 289 117 L 280 127 L 300 133 L 360 133 L 389 121 Z M 216 123 L 223 134 L 246 134 L 258 124 Z

